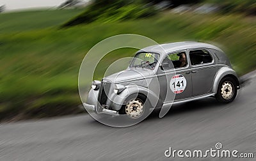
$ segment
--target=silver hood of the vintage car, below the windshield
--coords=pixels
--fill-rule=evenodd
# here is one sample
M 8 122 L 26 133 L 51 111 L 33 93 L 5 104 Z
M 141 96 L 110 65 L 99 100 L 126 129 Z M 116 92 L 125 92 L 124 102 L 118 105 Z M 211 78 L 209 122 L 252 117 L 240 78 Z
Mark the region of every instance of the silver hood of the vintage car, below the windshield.
M 154 75 L 154 70 L 147 68 L 128 68 L 127 70 L 104 77 L 104 79 L 108 79 L 111 82 L 123 82 L 129 81 L 130 79 L 140 79 L 149 75 Z

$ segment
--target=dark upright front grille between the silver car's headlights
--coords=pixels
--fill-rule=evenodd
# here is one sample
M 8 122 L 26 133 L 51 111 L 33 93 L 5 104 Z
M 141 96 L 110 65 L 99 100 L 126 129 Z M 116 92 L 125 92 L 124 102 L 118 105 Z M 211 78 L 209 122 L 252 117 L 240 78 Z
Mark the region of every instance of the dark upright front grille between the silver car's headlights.
M 111 87 L 111 82 L 102 79 L 100 84 L 100 89 L 99 89 L 99 96 L 98 96 L 98 101 L 100 105 L 106 105 L 110 87 Z

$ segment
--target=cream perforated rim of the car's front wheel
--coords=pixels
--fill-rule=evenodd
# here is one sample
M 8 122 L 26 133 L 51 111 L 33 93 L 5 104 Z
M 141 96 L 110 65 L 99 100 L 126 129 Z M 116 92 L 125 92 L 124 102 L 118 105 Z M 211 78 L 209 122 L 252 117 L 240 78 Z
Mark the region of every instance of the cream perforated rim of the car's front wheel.
M 140 116 L 143 114 L 143 111 L 143 103 L 138 98 L 130 100 L 128 104 L 125 106 L 125 113 L 130 118 L 140 118 Z

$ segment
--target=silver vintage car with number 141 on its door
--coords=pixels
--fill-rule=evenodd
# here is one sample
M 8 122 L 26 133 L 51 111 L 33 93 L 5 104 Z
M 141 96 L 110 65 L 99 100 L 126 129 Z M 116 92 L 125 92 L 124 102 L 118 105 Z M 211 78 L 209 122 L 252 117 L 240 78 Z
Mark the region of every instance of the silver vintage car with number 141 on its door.
M 138 119 L 156 107 L 214 96 L 232 102 L 239 79 L 224 52 L 200 42 L 177 42 L 136 52 L 129 67 L 93 81 L 86 109 Z

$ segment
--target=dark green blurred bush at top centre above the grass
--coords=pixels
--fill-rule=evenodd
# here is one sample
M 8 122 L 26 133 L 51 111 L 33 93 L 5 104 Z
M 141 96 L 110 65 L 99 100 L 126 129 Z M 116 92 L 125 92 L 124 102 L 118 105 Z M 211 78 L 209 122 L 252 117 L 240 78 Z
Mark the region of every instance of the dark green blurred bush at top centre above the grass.
M 152 6 L 143 3 L 132 3 L 124 0 L 95 1 L 83 13 L 68 20 L 62 27 L 88 24 L 91 22 L 117 22 L 124 20 L 141 19 L 156 15 L 157 11 Z

